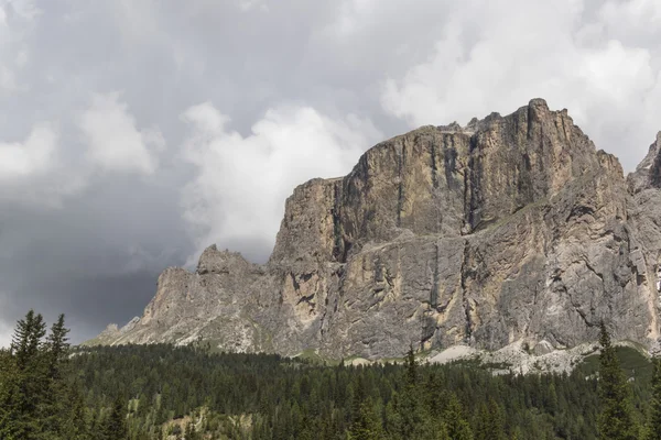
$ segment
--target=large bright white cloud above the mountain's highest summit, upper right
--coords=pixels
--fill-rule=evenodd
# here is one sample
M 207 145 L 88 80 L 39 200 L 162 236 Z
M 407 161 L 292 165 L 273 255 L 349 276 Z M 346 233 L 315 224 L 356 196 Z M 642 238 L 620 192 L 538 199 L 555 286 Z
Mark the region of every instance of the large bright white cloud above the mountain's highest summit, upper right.
M 632 3 L 644 2 L 617 4 L 642 10 Z M 483 8 L 474 8 L 478 4 Z M 615 34 L 608 31 L 614 23 L 604 16 L 613 15 L 614 4 L 597 14 L 602 22 L 588 23 L 582 21 L 585 11 L 578 0 L 467 1 L 452 14 L 429 59 L 386 80 L 382 106 L 418 127 L 465 123 L 546 98 L 551 107 L 568 108 L 598 146 L 613 151 L 618 141 L 629 141 L 639 151 L 621 157 L 631 169 L 661 128 L 661 108 L 649 95 L 660 66 L 650 48 L 607 38 Z M 648 7 L 651 11 L 651 2 Z M 463 32 L 476 21 L 483 23 L 479 35 L 466 44 Z M 652 117 L 641 118 L 643 109 Z M 638 130 L 631 132 L 632 127 Z

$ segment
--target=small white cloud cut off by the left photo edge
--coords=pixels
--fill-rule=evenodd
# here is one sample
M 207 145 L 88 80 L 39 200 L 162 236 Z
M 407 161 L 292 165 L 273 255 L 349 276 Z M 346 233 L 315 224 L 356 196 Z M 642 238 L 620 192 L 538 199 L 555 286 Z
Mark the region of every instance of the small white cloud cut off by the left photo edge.
M 0 183 L 47 172 L 54 164 L 57 134 L 47 123 L 35 125 L 23 142 L 0 142 Z

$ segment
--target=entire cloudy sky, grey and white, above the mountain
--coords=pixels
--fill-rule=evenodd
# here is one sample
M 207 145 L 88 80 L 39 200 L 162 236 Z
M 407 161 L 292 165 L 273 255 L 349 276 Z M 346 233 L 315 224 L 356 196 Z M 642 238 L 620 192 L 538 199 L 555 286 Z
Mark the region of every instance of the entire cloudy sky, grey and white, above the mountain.
M 425 124 L 566 108 L 627 172 L 661 130 L 658 0 L 0 0 L 0 345 L 141 315 L 293 188 Z

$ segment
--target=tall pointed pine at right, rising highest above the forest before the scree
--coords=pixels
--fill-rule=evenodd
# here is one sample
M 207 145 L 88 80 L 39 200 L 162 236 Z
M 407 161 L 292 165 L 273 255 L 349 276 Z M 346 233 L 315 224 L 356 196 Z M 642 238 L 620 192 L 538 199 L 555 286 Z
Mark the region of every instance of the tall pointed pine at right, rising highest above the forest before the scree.
M 636 440 L 638 426 L 633 418 L 631 391 L 620 367 L 610 336 L 602 322 L 599 343 L 599 406 L 597 429 L 602 440 Z

